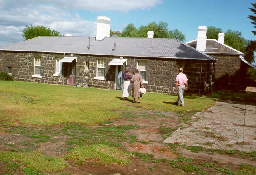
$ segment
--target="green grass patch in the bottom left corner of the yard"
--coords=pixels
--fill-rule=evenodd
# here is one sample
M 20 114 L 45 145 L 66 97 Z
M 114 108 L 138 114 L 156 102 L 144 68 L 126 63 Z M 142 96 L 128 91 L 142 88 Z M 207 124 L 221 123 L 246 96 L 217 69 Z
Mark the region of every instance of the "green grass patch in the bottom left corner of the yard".
M 68 166 L 62 158 L 54 156 L 46 156 L 42 153 L 28 152 L 28 153 L 14 153 L 14 152 L 0 152 L 0 160 L 12 159 L 10 167 L 18 166 L 17 162 L 22 163 L 25 167 L 33 171 L 59 171 Z M 14 166 L 14 163 L 15 166 Z

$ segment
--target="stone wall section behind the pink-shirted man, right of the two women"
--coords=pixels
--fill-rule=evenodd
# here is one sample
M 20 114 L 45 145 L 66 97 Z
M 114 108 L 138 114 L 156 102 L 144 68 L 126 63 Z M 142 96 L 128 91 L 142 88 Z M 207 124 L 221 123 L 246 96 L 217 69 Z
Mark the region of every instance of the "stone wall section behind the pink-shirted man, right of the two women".
M 200 88 L 205 93 L 212 90 L 215 63 L 209 61 L 184 60 L 184 59 L 135 59 L 137 61 L 147 61 L 147 81 L 146 88 L 149 92 L 172 94 L 175 93 L 175 79 L 178 75 L 179 67 L 183 67 L 184 74 L 188 77 L 188 92 L 197 93 Z M 132 61 L 130 61 L 132 63 Z M 129 63 L 129 62 L 128 62 Z M 134 67 L 133 63 L 131 67 Z

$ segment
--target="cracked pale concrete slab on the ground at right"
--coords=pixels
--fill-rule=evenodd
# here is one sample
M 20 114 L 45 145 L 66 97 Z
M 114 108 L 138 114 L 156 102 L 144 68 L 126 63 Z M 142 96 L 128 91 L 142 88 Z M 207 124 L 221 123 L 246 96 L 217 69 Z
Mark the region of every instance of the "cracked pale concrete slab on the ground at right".
M 256 105 L 216 102 L 198 112 L 188 128 L 176 130 L 164 143 L 183 143 L 209 149 L 256 151 Z

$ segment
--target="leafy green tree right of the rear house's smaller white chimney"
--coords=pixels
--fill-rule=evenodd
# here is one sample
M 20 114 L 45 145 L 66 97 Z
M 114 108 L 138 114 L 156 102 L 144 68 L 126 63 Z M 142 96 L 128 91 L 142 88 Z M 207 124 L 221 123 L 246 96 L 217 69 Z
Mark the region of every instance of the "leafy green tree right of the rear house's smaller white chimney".
M 242 37 L 242 33 L 240 31 L 232 31 L 228 29 L 225 32 L 224 43 L 238 51 L 244 52 L 247 42 L 248 41 Z

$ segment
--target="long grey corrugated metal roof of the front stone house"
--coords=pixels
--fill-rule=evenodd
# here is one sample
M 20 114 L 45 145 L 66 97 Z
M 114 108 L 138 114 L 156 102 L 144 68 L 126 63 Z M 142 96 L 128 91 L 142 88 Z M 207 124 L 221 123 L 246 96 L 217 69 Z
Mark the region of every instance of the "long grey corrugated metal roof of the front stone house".
M 90 37 L 90 50 L 88 42 L 89 37 L 36 37 L 0 50 L 216 60 L 178 39 L 106 37 L 98 41 Z

